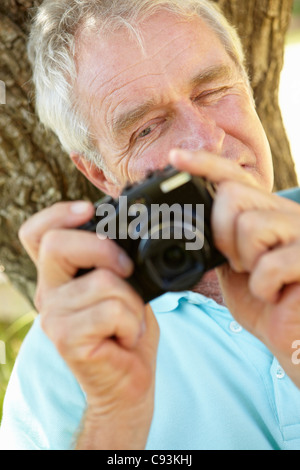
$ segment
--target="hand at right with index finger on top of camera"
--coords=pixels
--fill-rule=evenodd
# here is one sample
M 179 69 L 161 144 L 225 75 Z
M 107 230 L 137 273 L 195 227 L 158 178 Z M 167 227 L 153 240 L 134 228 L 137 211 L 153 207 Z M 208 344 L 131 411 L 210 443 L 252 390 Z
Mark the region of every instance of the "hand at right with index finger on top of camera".
M 228 260 L 217 270 L 226 305 L 300 387 L 292 362 L 300 340 L 300 204 L 264 191 L 225 158 L 176 150 L 170 162 L 217 183 L 212 227 Z

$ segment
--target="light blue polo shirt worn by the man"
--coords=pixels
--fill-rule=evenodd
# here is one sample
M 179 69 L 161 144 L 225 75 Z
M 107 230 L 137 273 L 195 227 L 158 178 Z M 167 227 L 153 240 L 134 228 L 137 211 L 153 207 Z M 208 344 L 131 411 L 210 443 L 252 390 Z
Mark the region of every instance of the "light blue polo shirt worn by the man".
M 300 449 L 300 390 L 227 308 L 193 292 L 151 305 L 160 342 L 147 449 Z M 0 449 L 72 449 L 85 406 L 37 317 L 7 389 Z

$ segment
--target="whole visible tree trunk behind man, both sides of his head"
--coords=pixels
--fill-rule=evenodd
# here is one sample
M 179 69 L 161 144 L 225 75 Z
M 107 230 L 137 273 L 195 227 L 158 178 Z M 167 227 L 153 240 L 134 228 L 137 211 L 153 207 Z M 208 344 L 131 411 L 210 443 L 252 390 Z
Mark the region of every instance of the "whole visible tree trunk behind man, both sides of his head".
M 41 0 L 2 0 L 0 4 L 0 264 L 12 282 L 33 298 L 36 273 L 17 232 L 31 214 L 60 200 L 90 198 L 95 190 L 75 169 L 56 137 L 34 114 L 30 66 L 26 56 L 28 12 Z M 259 115 L 270 139 L 276 189 L 297 184 L 278 106 L 284 35 L 292 0 L 219 0 L 241 33 Z M 2 87 L 3 88 L 3 87 Z

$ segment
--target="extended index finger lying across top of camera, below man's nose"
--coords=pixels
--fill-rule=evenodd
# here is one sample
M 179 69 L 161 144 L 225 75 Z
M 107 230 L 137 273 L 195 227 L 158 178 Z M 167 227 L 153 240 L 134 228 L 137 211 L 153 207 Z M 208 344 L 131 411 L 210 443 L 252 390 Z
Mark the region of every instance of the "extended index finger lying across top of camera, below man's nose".
M 170 152 L 170 163 L 182 171 L 202 176 L 213 183 L 240 181 L 258 186 L 255 179 L 236 163 L 214 154 L 174 149 Z

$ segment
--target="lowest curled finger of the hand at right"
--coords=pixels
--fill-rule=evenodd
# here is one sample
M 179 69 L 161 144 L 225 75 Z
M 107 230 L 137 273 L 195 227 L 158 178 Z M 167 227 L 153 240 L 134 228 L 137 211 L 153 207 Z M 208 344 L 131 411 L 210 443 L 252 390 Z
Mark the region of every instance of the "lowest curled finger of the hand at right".
M 276 303 L 285 286 L 300 283 L 300 243 L 270 251 L 259 258 L 249 279 L 252 294 Z

